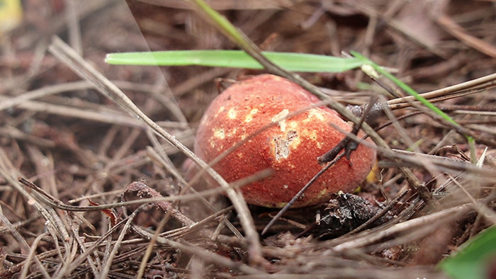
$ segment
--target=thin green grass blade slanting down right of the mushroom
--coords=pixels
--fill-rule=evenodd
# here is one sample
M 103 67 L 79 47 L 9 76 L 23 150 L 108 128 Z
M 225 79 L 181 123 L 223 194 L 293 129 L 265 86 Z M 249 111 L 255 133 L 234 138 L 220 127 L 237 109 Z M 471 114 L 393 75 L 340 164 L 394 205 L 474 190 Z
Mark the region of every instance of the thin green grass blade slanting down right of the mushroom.
M 364 57 L 363 55 L 359 54 L 358 52 L 351 51 L 351 55 L 353 55 L 356 58 L 362 59 L 362 64 L 368 64 L 371 67 L 373 67 L 374 70 L 376 70 L 379 74 L 382 74 L 385 76 L 387 79 L 390 79 L 390 81 L 393 81 L 397 86 L 400 87 L 403 91 L 409 93 L 411 96 L 414 96 L 417 101 L 422 103 L 422 105 L 426 106 L 429 108 L 429 110 L 432 110 L 434 113 L 439 115 L 441 118 L 446 120 L 448 123 L 451 123 L 455 125 L 456 127 L 460 127 L 460 124 L 456 123 L 453 118 L 449 117 L 444 111 L 439 109 L 438 107 L 434 106 L 433 103 L 429 102 L 426 98 L 421 96 L 417 91 L 413 90 L 410 86 L 407 86 L 407 84 L 403 83 L 400 81 L 400 79 L 397 79 L 395 76 L 392 74 L 388 73 L 385 71 L 382 67 L 380 67 L 378 64 L 372 62 L 370 59 Z M 468 141 L 468 146 L 470 147 L 470 160 L 475 163 L 476 162 L 476 156 L 475 156 L 475 139 L 470 136 L 470 135 L 464 135 Z

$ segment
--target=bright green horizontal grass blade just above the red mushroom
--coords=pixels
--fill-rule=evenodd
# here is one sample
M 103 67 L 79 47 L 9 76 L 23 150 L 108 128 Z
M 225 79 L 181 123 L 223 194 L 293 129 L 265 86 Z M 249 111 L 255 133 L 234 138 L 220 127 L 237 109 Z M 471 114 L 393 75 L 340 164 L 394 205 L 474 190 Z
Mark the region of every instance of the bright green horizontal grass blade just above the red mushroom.
M 334 57 L 294 52 L 261 52 L 279 67 L 295 72 L 345 72 L 361 66 L 356 57 Z M 159 52 L 110 53 L 109 64 L 150 66 L 230 67 L 264 69 L 257 60 L 243 50 L 171 50 Z

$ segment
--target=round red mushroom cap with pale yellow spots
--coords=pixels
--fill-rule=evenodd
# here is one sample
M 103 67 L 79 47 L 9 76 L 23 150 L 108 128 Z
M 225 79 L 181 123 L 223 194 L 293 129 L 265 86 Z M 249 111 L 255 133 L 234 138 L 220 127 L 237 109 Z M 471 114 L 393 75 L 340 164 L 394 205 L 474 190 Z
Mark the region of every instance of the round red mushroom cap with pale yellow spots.
M 262 74 L 239 81 L 220 93 L 205 111 L 194 151 L 209 162 L 245 139 L 213 169 L 227 182 L 271 169 L 270 176 L 242 186 L 241 191 L 249 204 L 283 207 L 322 169 L 317 157 L 344 139 L 345 135 L 334 127 L 346 132 L 352 128 L 336 111 L 311 107 L 318 101 L 312 93 L 280 76 Z M 303 108 L 308 110 L 288 117 Z M 349 160 L 339 159 L 293 207 L 316 205 L 339 190 L 347 193 L 356 189 L 375 161 L 376 150 L 359 144 Z

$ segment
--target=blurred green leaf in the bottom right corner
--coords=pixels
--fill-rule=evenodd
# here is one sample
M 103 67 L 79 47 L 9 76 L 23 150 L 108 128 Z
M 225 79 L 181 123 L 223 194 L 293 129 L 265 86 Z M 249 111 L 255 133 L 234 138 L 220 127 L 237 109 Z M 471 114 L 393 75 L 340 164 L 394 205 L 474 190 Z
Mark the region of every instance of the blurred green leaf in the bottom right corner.
M 485 279 L 496 264 L 496 227 L 490 227 L 439 263 L 439 268 L 454 279 Z

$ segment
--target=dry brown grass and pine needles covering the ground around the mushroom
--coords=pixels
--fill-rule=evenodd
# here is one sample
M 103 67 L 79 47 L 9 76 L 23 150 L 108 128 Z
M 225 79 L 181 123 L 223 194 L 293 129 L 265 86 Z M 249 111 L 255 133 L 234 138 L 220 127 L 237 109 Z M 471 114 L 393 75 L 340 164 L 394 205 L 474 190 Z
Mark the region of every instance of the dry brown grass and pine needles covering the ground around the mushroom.
M 277 212 L 247 207 L 230 188 L 246 181 L 225 183 L 225 199 L 186 171 L 203 164 L 189 150 L 215 78 L 261 71 L 103 63 L 235 45 L 181 1 L 85 2 L 27 0 L 1 37 L 0 278 L 443 278 L 436 263 L 495 224 L 492 2 L 215 1 L 264 50 L 356 50 L 391 67 L 475 137 L 478 165 L 459 129 L 381 98 L 385 144 L 358 194 L 381 222 L 340 237 L 326 227 L 332 203 L 290 210 L 261 236 Z M 301 76 L 343 105 L 387 95 L 359 71 Z

